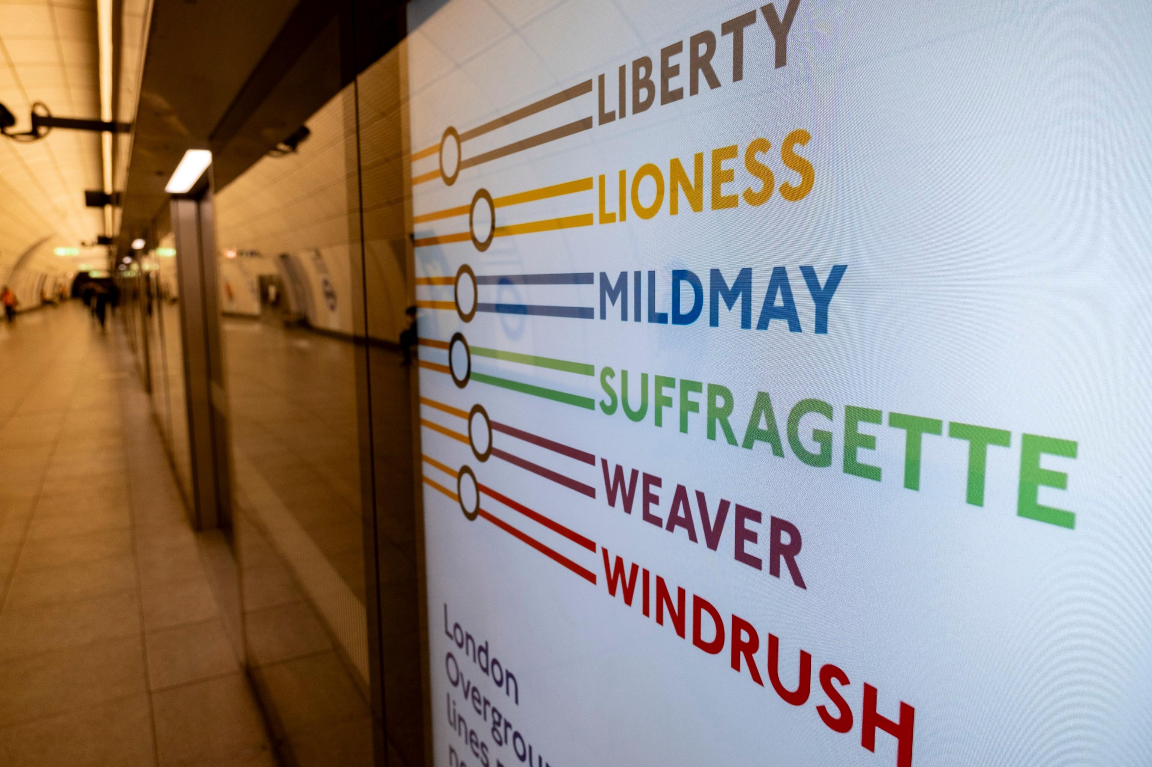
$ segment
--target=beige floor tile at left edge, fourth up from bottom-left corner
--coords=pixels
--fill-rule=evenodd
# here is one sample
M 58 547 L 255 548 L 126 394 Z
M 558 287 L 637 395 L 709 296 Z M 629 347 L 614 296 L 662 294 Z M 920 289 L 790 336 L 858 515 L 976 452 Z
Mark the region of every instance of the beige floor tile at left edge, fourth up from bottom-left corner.
M 43 607 L 135 588 L 136 559 L 131 555 L 21 571 L 13 578 L 5 610 Z

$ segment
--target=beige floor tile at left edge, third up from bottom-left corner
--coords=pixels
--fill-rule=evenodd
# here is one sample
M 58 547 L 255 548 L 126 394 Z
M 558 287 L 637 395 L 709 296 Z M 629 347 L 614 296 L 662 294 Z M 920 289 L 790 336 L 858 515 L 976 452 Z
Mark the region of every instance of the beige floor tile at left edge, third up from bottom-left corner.
M 18 568 L 17 568 L 18 569 Z M 0 614 L 0 660 L 139 633 L 136 592 Z

